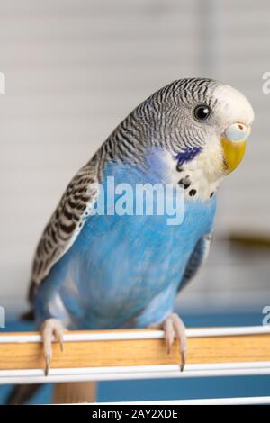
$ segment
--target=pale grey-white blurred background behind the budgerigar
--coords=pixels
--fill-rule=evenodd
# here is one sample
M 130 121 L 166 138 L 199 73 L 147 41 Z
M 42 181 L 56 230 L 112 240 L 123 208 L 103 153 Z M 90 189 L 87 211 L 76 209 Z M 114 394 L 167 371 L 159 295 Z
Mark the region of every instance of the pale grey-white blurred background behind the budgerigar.
M 220 190 L 210 260 L 181 308 L 270 303 L 269 16 L 267 0 L 0 0 L 0 305 L 8 314 L 26 306 L 34 247 L 72 175 L 138 103 L 186 76 L 236 86 L 256 122 L 244 163 Z M 237 247 L 231 236 L 257 243 Z

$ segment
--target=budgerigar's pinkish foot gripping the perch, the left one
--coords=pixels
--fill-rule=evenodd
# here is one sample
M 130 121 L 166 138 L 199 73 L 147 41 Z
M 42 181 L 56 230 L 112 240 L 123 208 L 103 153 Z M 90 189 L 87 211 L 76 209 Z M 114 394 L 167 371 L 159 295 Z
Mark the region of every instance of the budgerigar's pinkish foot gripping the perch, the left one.
M 51 343 L 56 340 L 61 348 L 64 350 L 64 327 L 60 320 L 47 319 L 43 322 L 41 328 L 41 336 L 43 339 L 43 351 L 45 359 L 45 375 L 49 374 L 49 367 L 52 357 Z

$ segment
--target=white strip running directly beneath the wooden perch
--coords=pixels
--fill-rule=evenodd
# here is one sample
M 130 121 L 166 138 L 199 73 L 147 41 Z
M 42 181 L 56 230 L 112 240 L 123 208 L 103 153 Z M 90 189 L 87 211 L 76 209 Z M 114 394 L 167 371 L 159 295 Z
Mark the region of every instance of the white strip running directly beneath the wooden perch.
M 269 375 L 270 362 L 186 365 L 138 365 L 127 367 L 84 367 L 51 369 L 48 376 L 41 369 L 1 370 L 0 384 L 116 381 L 186 377 Z

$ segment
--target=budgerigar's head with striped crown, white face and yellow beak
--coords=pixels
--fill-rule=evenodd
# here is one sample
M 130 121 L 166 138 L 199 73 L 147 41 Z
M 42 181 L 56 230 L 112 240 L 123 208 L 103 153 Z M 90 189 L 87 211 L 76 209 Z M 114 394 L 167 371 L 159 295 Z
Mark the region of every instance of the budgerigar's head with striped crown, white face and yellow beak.
M 164 129 L 159 127 L 166 147 L 180 162 L 197 160 L 211 180 L 238 167 L 254 120 L 250 103 L 238 90 L 211 79 L 181 79 L 152 99 L 166 122 Z

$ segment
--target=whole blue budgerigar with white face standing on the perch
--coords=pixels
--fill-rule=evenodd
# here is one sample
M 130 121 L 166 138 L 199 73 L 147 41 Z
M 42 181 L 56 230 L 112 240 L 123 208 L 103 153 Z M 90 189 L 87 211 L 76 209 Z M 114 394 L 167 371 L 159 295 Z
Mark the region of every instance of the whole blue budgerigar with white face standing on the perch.
M 30 301 L 47 374 L 51 340 L 62 344 L 64 329 L 159 325 L 168 351 L 179 339 L 184 367 L 175 297 L 207 256 L 220 181 L 240 163 L 253 119 L 250 103 L 231 86 L 181 79 L 140 103 L 78 171 L 32 267 Z M 169 225 L 166 213 L 93 213 L 109 176 L 115 185 L 179 184 L 184 220 Z

